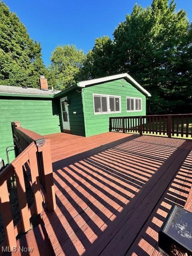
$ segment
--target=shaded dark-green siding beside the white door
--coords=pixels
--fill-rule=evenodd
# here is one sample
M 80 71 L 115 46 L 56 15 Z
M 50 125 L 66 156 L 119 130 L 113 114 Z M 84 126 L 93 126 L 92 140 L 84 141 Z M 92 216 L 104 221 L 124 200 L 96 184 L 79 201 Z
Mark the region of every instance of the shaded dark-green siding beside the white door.
M 78 91 L 80 91 L 80 89 Z M 70 102 L 68 108 L 71 134 L 85 136 L 81 91 L 77 92 L 76 90 L 74 90 L 68 92 L 62 95 L 61 98 L 66 96 Z M 76 114 L 73 114 L 73 112 L 76 112 Z

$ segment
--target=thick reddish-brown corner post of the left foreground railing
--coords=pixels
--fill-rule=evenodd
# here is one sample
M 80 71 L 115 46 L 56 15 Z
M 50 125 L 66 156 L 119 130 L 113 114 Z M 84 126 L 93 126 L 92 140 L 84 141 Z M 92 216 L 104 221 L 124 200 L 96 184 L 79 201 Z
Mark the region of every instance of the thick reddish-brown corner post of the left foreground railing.
M 38 152 L 42 152 L 42 170 L 44 175 L 44 189 L 46 191 L 46 204 L 49 212 L 56 209 L 56 198 L 53 182 L 53 168 L 51 159 L 50 140 L 36 140 Z

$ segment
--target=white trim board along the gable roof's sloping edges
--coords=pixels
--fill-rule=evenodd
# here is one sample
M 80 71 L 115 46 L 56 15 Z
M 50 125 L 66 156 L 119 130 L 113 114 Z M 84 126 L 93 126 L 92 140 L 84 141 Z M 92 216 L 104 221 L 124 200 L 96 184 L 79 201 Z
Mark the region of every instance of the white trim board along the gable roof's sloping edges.
M 85 86 L 88 86 L 88 85 L 91 85 L 91 84 L 99 84 L 99 83 L 102 83 L 102 82 L 107 82 L 107 81 L 110 81 L 110 80 L 116 80 L 116 79 L 120 79 L 120 78 L 124 78 L 124 79 L 128 80 L 129 82 L 131 81 L 144 94 L 146 94 L 149 97 L 151 96 L 151 94 L 147 90 L 145 90 L 140 84 L 138 84 L 138 82 L 136 82 L 136 80 L 134 80 L 134 78 L 132 78 L 127 73 L 113 75 L 113 76 L 106 76 L 106 77 L 92 79 L 92 80 L 81 81 L 81 82 L 78 83 L 78 86 L 85 87 Z

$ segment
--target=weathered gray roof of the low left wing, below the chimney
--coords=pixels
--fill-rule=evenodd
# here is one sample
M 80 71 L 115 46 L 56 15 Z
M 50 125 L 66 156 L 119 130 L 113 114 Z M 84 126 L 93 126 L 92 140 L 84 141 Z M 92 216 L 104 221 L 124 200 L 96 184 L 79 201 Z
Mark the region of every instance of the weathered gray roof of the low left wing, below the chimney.
M 18 86 L 0 85 L 0 93 L 18 93 L 18 94 L 32 94 L 32 95 L 50 95 L 57 94 L 57 90 L 40 90 L 38 88 L 22 88 Z

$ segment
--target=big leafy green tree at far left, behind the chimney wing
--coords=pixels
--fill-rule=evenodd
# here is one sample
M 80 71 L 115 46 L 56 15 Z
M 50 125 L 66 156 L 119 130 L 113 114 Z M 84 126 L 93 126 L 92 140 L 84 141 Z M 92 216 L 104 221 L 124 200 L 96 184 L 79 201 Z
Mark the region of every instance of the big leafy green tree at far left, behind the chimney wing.
M 0 2 L 0 84 L 38 87 L 40 74 L 47 74 L 41 57 L 40 44 Z

